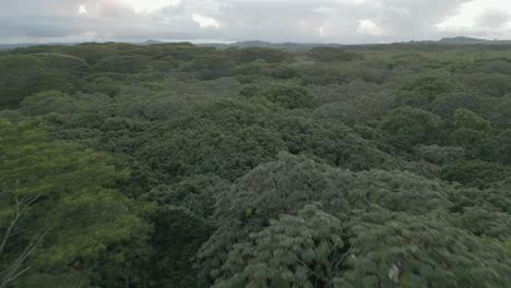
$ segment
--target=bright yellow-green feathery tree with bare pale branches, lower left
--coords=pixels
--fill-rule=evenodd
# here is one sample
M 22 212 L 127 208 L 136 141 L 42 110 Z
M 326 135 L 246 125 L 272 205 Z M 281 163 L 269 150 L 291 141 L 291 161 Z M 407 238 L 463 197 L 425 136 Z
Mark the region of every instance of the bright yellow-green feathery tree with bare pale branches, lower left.
M 38 120 L 0 122 L 0 184 L 19 181 L 15 197 L 22 203 L 5 200 L 1 205 L 23 208 L 17 220 L 23 229 L 11 233 L 0 264 L 35 248 L 24 261 L 31 268 L 13 286 L 141 281 L 133 263 L 142 263 L 147 252 L 150 226 L 142 216 L 151 206 L 120 193 L 117 187 L 127 171 L 116 170 L 108 157 L 75 144 L 47 142 L 40 125 Z M 46 237 L 31 245 L 36 235 Z

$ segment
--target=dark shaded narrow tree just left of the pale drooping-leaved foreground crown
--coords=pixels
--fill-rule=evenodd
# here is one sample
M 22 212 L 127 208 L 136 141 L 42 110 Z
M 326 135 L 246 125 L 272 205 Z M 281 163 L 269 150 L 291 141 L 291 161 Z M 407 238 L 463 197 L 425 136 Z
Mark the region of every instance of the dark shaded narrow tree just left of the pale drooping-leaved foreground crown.
M 230 188 L 218 177 L 197 176 L 158 185 L 143 196 L 155 201 L 150 275 L 156 287 L 200 287 L 192 259 L 214 231 L 211 219 L 216 196 Z

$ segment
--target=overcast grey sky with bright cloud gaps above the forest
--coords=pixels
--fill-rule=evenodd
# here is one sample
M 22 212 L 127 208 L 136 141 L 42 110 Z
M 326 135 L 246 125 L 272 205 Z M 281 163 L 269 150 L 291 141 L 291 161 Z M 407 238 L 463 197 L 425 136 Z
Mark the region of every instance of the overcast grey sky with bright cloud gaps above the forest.
M 511 39 L 511 0 L 0 0 L 0 43 Z

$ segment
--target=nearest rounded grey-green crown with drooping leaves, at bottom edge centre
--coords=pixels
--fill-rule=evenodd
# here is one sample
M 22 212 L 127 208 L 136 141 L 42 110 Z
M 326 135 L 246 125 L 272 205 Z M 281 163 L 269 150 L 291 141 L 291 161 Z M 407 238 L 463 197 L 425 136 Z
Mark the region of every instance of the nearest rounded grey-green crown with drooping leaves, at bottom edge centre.
M 341 220 L 307 205 L 236 244 L 213 287 L 333 287 L 348 249 Z

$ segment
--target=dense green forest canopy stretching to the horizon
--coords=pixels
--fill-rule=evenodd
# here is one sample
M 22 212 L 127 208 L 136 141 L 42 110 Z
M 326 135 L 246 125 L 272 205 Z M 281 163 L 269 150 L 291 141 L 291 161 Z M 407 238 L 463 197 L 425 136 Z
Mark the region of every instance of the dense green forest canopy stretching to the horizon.
M 0 52 L 0 287 L 510 287 L 511 46 Z

